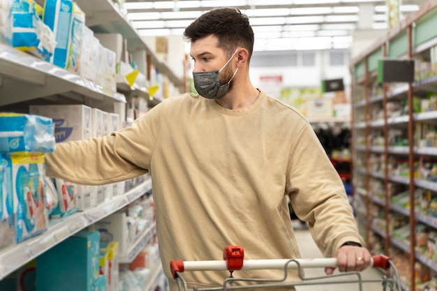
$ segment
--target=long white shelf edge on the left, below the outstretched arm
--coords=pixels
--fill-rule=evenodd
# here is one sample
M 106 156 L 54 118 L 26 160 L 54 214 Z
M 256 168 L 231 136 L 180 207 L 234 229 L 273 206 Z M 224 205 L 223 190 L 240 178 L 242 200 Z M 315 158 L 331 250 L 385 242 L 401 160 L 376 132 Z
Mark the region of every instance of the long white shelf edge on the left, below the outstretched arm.
M 150 190 L 151 179 L 148 179 L 124 195 L 114 197 L 94 209 L 50 219 L 46 232 L 0 252 L 0 280 L 64 239 L 130 204 Z

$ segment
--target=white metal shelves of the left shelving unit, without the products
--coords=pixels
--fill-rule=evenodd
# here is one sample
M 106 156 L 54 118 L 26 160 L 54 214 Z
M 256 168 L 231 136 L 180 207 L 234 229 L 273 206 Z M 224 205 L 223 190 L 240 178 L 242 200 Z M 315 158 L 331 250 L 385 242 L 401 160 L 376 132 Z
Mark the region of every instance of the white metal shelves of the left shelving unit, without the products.
M 37 2 L 44 3 L 43 0 Z M 86 13 L 86 24 L 94 33 L 120 33 L 127 40 L 128 52 L 145 52 L 147 66 L 146 71 L 141 72 L 145 80 L 150 80 L 150 70 L 153 65 L 159 73 L 167 76 L 175 87 L 184 88 L 183 77 L 173 72 L 166 61 L 142 40 L 112 0 L 76 0 L 76 2 Z M 119 80 L 123 80 L 123 77 Z M 161 101 L 157 98 L 151 100 L 147 89 L 138 84 L 130 87 L 126 82 L 118 82 L 117 91 L 110 91 L 47 61 L 0 44 L 0 111 L 27 113 L 30 103 L 68 104 L 71 102 L 102 110 L 108 108 L 113 110 L 114 104 L 127 103 L 133 96 L 145 98 L 149 103 L 153 103 L 152 105 Z M 64 218 L 51 218 L 50 225 L 42 234 L 0 251 L 0 280 L 64 239 L 135 202 L 149 191 L 151 191 L 150 178 L 124 195 L 113 197 L 112 200 L 99 204 L 93 209 L 78 211 Z M 155 237 L 155 234 L 156 224 L 152 223 L 128 248 L 128 253 L 121 256 L 121 262 L 131 262 Z M 154 290 L 162 274 L 162 267 L 156 269 L 145 290 Z

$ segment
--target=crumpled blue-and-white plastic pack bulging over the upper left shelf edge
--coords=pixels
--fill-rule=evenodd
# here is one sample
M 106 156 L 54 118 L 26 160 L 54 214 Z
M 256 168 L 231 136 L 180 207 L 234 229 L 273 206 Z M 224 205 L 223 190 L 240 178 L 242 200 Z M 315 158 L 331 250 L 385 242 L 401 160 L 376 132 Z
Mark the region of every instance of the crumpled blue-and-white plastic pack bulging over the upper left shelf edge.
M 38 17 L 38 9 L 34 1 L 12 0 L 4 31 L 12 47 L 47 59 L 54 53 L 56 41 L 50 27 Z

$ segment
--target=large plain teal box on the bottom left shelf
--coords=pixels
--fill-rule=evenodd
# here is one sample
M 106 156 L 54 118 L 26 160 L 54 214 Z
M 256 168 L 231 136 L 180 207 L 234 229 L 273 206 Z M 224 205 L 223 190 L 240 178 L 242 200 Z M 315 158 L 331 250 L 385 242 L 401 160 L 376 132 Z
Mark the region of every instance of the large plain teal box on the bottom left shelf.
M 98 232 L 82 230 L 39 255 L 36 291 L 94 290 L 99 277 L 99 237 Z

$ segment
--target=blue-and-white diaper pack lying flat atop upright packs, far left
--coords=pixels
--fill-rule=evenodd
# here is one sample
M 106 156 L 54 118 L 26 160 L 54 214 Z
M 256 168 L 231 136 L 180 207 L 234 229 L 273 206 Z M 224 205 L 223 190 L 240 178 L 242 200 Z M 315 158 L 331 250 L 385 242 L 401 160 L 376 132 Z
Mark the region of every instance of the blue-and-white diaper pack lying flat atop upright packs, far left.
M 32 114 L 0 113 L 0 151 L 54 151 L 52 119 Z

